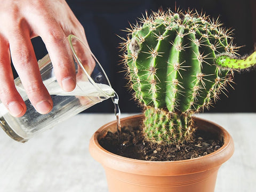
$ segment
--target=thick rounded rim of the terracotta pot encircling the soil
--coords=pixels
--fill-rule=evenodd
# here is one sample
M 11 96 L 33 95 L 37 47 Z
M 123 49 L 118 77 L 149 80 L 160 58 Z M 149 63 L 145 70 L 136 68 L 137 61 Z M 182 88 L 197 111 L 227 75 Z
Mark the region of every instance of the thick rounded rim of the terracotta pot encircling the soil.
M 142 117 L 143 115 L 133 115 L 122 118 L 121 122 L 127 121 L 128 119 L 137 119 Z M 92 135 L 89 150 L 92 157 L 103 166 L 134 174 L 181 175 L 203 172 L 206 170 L 214 169 L 215 167 L 219 168 L 220 165 L 225 163 L 234 153 L 234 141 L 231 135 L 218 124 L 198 117 L 193 118 L 195 121 L 210 123 L 213 126 L 218 127 L 218 129 L 223 134 L 223 146 L 211 154 L 181 161 L 146 161 L 123 157 L 109 152 L 108 150 L 101 147 L 98 142 L 99 134 L 103 130 L 107 129 L 107 127 L 110 125 L 116 124 L 116 121 L 112 121 L 101 126 L 100 129 Z M 136 167 L 135 172 L 132 169 L 134 166 Z M 184 166 L 186 166 L 186 169 L 184 169 Z

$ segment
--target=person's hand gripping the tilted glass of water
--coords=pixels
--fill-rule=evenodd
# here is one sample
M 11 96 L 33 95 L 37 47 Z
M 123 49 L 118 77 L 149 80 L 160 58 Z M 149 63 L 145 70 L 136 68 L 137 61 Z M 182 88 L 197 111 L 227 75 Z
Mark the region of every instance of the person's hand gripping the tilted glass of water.
M 76 86 L 76 73 L 67 36 L 73 34 L 87 43 L 84 29 L 63 0 L 0 2 L 0 99 L 11 115 L 21 117 L 25 114 L 26 105 L 13 81 L 12 58 L 32 105 L 38 113 L 49 113 L 53 102 L 42 82 L 30 39 L 42 38 L 57 81 L 69 92 Z M 90 63 L 94 62 L 90 53 L 85 53 L 85 58 L 90 68 Z

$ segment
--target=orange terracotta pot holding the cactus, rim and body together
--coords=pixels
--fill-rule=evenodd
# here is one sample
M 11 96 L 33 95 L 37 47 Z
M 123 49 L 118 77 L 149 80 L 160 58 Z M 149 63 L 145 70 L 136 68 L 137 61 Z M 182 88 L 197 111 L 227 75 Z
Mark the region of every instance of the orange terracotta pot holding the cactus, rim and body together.
M 142 115 L 121 119 L 122 126 L 141 124 Z M 218 134 L 224 145 L 214 153 L 183 161 L 150 162 L 115 155 L 103 149 L 98 139 L 116 131 L 116 122 L 103 125 L 90 140 L 92 157 L 106 171 L 109 192 L 213 192 L 221 164 L 234 153 L 233 139 L 221 126 L 194 118 L 198 129 Z

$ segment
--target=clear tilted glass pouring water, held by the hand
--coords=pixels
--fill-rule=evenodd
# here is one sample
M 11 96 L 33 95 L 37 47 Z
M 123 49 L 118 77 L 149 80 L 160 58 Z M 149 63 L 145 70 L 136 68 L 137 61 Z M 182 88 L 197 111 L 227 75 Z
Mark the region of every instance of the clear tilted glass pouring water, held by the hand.
M 114 96 L 115 91 L 111 88 L 105 71 L 89 47 L 74 35 L 67 38 L 76 68 L 75 89 L 71 92 L 61 89 L 54 75 L 50 57 L 48 54 L 45 55 L 38 61 L 38 65 L 43 83 L 53 100 L 53 109 L 50 113 L 42 115 L 31 105 L 20 78 L 16 78 L 15 86 L 26 103 L 26 114 L 22 117 L 13 117 L 0 102 L 0 125 L 12 139 L 26 142 L 37 133 L 50 129 L 57 123 Z M 86 54 L 91 55 L 90 65 Z

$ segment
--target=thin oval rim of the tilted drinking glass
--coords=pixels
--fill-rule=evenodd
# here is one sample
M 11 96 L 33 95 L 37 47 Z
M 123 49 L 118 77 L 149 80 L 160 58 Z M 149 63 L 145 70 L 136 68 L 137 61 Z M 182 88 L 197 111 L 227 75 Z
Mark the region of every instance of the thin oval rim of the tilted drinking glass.
M 87 46 L 80 38 L 78 38 L 77 36 L 75 35 L 68 35 L 68 42 L 69 42 L 69 45 L 70 45 L 70 48 L 71 48 L 71 51 L 73 52 L 73 55 L 74 57 L 76 58 L 77 62 L 78 62 L 78 65 L 82 68 L 82 70 L 84 71 L 85 75 L 87 76 L 87 78 L 89 79 L 89 82 L 91 84 L 93 84 L 93 86 L 96 87 L 97 90 L 99 90 L 100 92 L 102 92 L 103 94 L 105 94 L 107 97 L 112 97 L 113 95 L 112 94 L 108 94 L 106 91 L 103 91 L 98 85 L 97 83 L 95 83 L 92 79 L 92 77 L 87 73 L 87 71 L 85 70 L 84 66 L 82 65 L 82 62 L 81 60 L 79 59 L 78 55 L 76 54 L 76 51 L 75 51 L 75 48 L 73 46 L 73 43 L 72 43 L 72 39 L 75 38 L 77 41 L 79 41 L 80 43 L 82 43 L 83 46 L 86 47 L 87 51 L 90 52 L 90 54 L 92 55 L 93 59 L 95 60 L 95 65 L 98 65 L 103 73 L 103 75 L 105 76 L 105 78 L 107 79 L 107 82 L 108 82 L 108 85 L 112 88 L 110 82 L 109 82 L 109 79 L 108 79 L 108 76 L 107 74 L 105 73 L 105 70 L 102 68 L 102 66 L 100 65 L 100 62 L 97 60 L 97 58 L 95 57 L 95 55 L 92 53 L 92 51 L 90 50 L 89 46 Z

